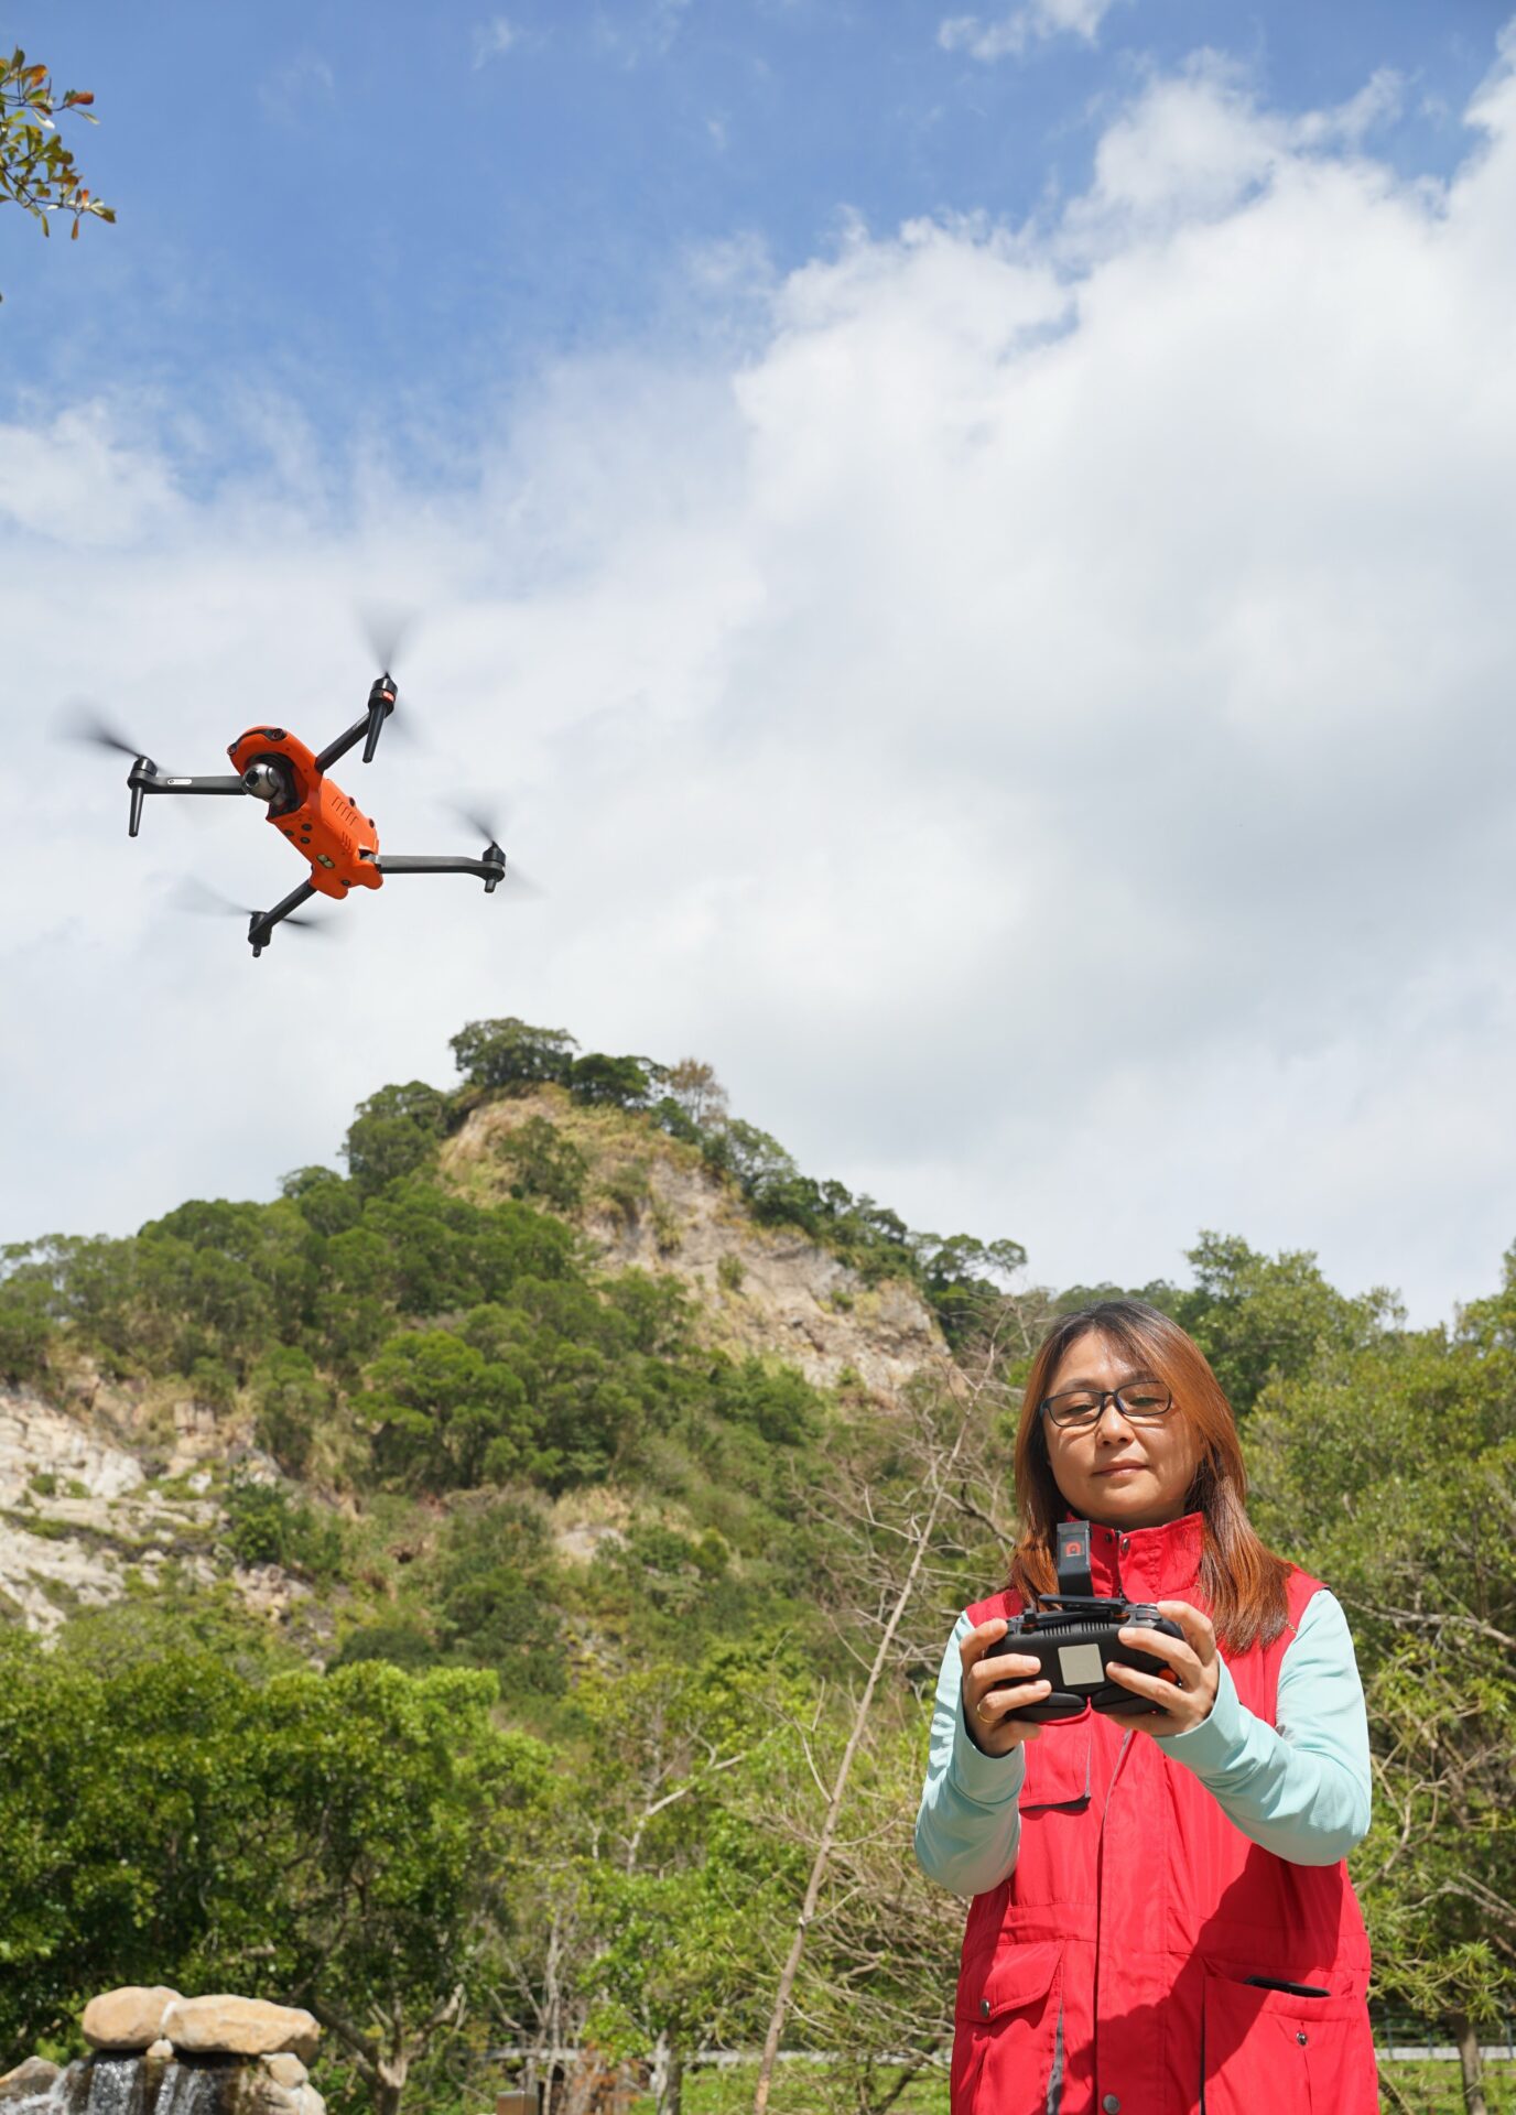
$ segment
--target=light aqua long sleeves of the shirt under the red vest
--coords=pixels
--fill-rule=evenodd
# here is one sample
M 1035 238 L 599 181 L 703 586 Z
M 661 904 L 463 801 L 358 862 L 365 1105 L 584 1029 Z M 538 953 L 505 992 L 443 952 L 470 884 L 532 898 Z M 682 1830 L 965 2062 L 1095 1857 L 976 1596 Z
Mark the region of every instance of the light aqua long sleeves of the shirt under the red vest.
M 970 1629 L 960 1616 L 943 1654 L 916 1819 L 916 1855 L 954 1895 L 983 1895 L 1015 1865 L 1025 1779 L 1021 1747 L 985 1755 L 964 1724 L 958 1648 Z M 996 1648 L 1004 1650 L 1013 1648 Z M 1252 1842 L 1292 1865 L 1334 1865 L 1368 1832 L 1370 1768 L 1353 1639 L 1326 1590 L 1311 1595 L 1283 1650 L 1277 1715 L 1275 1728 L 1241 1705 L 1222 1658 L 1209 1715 L 1159 1747 L 1199 1777 Z

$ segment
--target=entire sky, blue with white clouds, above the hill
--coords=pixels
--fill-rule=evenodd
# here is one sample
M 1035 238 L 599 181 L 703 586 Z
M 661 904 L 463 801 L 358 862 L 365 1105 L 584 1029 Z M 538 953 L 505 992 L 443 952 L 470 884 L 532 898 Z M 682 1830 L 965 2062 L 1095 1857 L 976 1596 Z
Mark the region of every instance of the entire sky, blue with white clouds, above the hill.
M 121 214 L 0 214 L 0 1239 L 332 1161 L 516 1013 L 818 1176 L 1419 1318 L 1516 1235 L 1516 23 L 1474 0 L 38 6 Z M 171 770 L 359 709 L 347 905 Z M 353 780 L 353 774 L 362 774 Z M 300 1032 L 292 1030 L 300 1022 Z M 249 1083 L 258 1119 L 243 1121 Z M 129 1121 L 125 1121 L 129 1117 Z

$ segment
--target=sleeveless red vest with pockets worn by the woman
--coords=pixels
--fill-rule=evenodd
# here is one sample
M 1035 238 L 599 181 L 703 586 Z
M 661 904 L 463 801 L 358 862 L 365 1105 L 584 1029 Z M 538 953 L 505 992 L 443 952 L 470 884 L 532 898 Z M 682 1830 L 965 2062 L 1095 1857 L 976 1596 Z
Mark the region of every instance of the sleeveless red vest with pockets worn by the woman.
M 1091 1527 L 1095 1593 L 1201 1605 L 1199 1561 L 1199 1514 Z M 1290 1629 L 1226 1656 L 1271 1726 L 1317 1590 L 1292 1569 Z M 968 1620 L 1015 1612 L 1000 1593 Z M 1262 1851 L 1148 1734 L 1085 1711 L 1028 1741 L 1015 1870 L 968 1910 L 951 2115 L 1379 2115 L 1366 1990 L 1347 1865 Z

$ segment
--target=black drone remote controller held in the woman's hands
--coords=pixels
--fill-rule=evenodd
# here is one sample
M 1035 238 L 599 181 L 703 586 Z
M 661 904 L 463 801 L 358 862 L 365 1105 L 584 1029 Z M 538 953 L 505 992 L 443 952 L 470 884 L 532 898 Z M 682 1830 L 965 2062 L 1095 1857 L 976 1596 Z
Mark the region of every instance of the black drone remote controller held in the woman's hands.
M 1057 1529 L 1057 1593 L 1038 1595 L 1036 1607 L 1017 1616 L 994 1648 L 998 1654 L 1019 1652 L 1036 1658 L 1042 1679 L 1051 1681 L 1053 1690 L 1040 1703 L 1006 1711 L 1004 1717 L 1047 1724 L 1078 1717 L 1085 1705 L 1093 1711 L 1161 1711 L 1161 1705 L 1123 1690 L 1106 1673 L 1106 1662 L 1116 1660 L 1144 1675 L 1178 1681 L 1167 1660 L 1121 1643 L 1116 1633 L 1131 1624 L 1161 1631 L 1165 1637 L 1184 1637 L 1178 1622 L 1161 1616 L 1150 1601 L 1091 1593 L 1089 1521 L 1064 1521 Z M 1036 1681 L 1036 1675 L 1028 1679 Z

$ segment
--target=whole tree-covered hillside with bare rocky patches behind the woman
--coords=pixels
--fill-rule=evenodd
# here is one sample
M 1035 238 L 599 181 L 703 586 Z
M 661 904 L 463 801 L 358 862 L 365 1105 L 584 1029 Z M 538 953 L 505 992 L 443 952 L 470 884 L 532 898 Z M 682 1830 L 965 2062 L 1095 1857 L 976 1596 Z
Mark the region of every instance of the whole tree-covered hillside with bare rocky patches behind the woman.
M 524 2066 L 588 2109 L 624 2060 L 687 2104 L 696 2052 L 763 2039 L 922 1546 L 789 2020 L 837 2060 L 772 2104 L 937 2107 L 924 1715 L 1002 1574 L 1025 1358 L 1091 1288 L 812 1180 L 694 1060 L 452 1047 L 343 1174 L 4 1252 L 0 2071 L 93 1986 L 241 1980 L 328 2022 L 336 2109 Z M 1417 1332 L 1307 1254 L 1190 1267 L 1142 1292 L 1360 1641 L 1381 2005 L 1478 2028 L 1516 1984 L 1516 1277 Z

